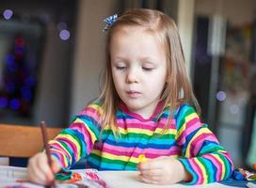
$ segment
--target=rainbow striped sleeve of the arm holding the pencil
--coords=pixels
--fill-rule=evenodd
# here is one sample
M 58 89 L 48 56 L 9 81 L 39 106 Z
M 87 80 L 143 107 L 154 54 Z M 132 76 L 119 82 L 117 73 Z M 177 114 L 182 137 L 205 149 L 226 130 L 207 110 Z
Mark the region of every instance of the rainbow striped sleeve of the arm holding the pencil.
M 49 142 L 51 154 L 65 168 L 70 168 L 80 159 L 85 158 L 99 139 L 99 105 L 90 104 L 73 120 L 69 128 L 61 131 Z

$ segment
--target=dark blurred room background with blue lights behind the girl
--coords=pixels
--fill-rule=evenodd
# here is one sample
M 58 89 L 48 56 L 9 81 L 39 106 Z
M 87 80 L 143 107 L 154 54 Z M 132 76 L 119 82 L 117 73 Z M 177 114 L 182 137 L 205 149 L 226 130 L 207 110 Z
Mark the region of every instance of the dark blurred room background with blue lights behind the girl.
M 255 0 L 0 0 L 0 123 L 68 126 L 100 91 L 103 20 L 127 8 L 176 21 L 202 121 L 255 163 Z

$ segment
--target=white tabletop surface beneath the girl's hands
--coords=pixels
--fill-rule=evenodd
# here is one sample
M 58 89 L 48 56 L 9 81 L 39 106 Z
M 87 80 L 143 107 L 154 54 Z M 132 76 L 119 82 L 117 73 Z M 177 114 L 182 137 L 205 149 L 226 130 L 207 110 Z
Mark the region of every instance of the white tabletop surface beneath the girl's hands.
M 75 170 L 77 172 L 84 170 Z M 194 187 L 191 185 L 173 184 L 173 185 L 152 185 L 141 182 L 137 179 L 136 171 L 99 171 L 100 176 L 106 182 L 109 188 L 172 188 L 172 187 Z M 26 180 L 26 168 L 0 165 L 0 187 L 4 187 L 8 182 L 15 180 Z M 41 187 L 41 186 L 33 186 Z M 231 188 L 220 183 L 210 183 L 207 185 L 197 185 L 195 187 L 213 187 L 213 188 Z

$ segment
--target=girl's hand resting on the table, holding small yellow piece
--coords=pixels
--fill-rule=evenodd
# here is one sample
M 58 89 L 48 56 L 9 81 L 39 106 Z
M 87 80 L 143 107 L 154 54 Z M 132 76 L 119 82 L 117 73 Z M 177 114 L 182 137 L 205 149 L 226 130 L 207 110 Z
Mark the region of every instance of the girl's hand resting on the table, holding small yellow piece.
M 137 169 L 140 180 L 152 184 L 173 184 L 190 178 L 179 160 L 166 156 L 140 163 Z

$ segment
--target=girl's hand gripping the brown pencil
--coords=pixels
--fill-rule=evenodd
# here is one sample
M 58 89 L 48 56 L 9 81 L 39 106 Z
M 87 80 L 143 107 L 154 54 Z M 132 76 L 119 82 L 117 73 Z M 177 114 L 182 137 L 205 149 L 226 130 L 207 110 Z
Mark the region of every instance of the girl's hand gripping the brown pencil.
M 61 168 L 56 158 L 52 157 L 53 164 L 50 167 L 45 153 L 40 152 L 31 157 L 27 165 L 28 180 L 41 185 L 48 185 L 55 180 L 55 174 Z

